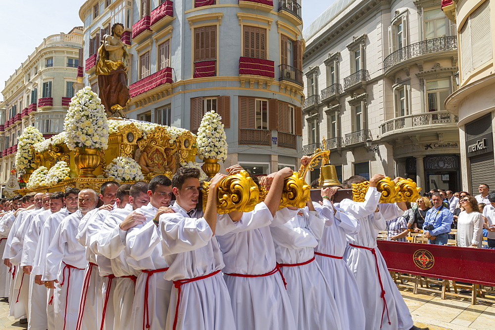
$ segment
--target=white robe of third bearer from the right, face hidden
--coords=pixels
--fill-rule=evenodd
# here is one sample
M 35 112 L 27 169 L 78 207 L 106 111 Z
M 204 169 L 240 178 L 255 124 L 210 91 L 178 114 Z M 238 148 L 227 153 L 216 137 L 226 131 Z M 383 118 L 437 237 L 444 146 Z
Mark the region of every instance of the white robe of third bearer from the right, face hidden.
M 314 257 L 321 239 L 324 220 L 307 208 L 282 209 L 275 218 L 289 218 L 283 225 L 270 227 L 279 264 L 297 264 Z M 287 282 L 297 329 L 342 329 L 334 295 L 314 261 L 300 266 L 281 267 Z

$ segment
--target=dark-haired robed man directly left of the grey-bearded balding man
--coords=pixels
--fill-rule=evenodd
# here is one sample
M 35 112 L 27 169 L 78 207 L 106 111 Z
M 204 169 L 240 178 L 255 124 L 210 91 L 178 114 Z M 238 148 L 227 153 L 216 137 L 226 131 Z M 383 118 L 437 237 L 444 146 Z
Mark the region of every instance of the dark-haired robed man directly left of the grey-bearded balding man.
M 59 197 L 62 197 L 64 208 L 61 208 L 58 212 L 52 213 L 45 220 L 40 229 L 40 238 L 38 239 L 38 244 L 36 245 L 36 251 L 33 259 L 33 269 L 31 274 L 35 274 L 34 282 L 39 286 L 44 286 L 45 281 L 42 280 L 43 273 L 45 271 L 48 248 L 50 243 L 55 237 L 60 222 L 68 215 L 77 211 L 77 201 L 79 189 L 74 187 L 67 187 L 64 193 L 55 192 L 50 196 L 50 209 L 51 202 L 53 201 L 54 206 L 59 205 Z M 57 200 L 58 199 L 58 200 Z M 48 301 L 52 301 L 53 289 L 44 288 L 47 290 Z M 53 303 L 47 304 L 47 315 L 48 315 L 48 329 L 55 329 L 55 315 L 53 309 Z

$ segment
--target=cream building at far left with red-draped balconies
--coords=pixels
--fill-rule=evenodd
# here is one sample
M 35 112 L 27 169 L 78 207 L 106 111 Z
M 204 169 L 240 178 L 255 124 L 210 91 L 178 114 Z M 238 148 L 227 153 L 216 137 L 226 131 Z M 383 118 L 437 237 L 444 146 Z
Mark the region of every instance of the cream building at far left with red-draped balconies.
M 63 130 L 77 81 L 82 33 L 82 27 L 75 27 L 48 36 L 5 81 L 0 105 L 2 186 L 14 165 L 17 138 L 24 127 L 34 125 L 45 137 Z

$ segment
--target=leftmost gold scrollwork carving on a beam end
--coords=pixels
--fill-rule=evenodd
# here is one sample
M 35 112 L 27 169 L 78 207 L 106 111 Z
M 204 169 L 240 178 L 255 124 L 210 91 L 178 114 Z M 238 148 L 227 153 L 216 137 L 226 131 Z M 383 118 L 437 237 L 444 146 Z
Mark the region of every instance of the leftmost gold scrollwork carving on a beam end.
M 210 182 L 203 182 L 203 210 L 206 208 Z M 259 189 L 247 171 L 228 175 L 218 184 L 217 213 L 250 212 L 259 201 Z

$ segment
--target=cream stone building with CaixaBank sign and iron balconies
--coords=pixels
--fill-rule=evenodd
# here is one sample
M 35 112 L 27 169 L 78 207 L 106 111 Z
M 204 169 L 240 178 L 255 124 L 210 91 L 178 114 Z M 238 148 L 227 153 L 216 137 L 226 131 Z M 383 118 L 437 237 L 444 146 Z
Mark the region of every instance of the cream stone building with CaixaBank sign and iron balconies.
M 375 173 L 458 190 L 455 24 L 440 0 L 337 0 L 303 31 L 303 153 L 323 136 L 340 179 Z M 311 173 L 311 180 L 318 175 Z

